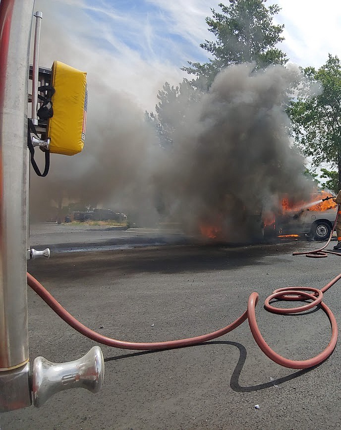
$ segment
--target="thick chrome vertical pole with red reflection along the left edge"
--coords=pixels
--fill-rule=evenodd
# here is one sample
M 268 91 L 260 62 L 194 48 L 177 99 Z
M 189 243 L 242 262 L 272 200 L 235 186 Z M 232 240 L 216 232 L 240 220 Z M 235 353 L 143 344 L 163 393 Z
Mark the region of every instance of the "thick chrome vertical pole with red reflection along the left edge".
M 26 187 L 34 0 L 0 2 L 0 412 L 31 404 Z

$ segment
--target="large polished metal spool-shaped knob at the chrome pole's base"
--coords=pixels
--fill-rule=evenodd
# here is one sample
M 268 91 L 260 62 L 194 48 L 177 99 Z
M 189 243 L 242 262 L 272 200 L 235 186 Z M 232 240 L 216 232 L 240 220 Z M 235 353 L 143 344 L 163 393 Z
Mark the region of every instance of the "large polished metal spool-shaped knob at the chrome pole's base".
M 86 388 L 97 393 L 103 384 L 104 358 L 99 346 L 94 346 L 78 360 L 52 363 L 37 357 L 33 363 L 32 399 L 37 408 L 55 393 L 69 388 Z

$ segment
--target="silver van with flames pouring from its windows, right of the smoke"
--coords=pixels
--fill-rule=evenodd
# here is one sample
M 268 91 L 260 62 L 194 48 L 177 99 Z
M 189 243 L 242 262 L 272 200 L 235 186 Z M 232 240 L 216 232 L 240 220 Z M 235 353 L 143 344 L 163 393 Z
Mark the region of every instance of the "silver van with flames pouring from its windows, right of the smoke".
M 311 202 L 301 202 L 292 206 L 288 199 L 283 199 L 282 213 L 276 215 L 277 235 L 303 235 L 310 239 L 327 240 L 337 215 L 337 204 L 331 193 L 322 191 L 312 196 Z M 323 200 L 327 199 L 328 200 Z

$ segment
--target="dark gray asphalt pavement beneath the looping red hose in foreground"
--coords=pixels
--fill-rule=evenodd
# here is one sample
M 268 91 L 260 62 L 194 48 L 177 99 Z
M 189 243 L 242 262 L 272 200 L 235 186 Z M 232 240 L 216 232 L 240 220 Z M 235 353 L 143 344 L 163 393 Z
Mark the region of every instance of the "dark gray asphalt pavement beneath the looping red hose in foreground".
M 60 252 L 50 260 L 29 262 L 29 271 L 83 324 L 130 341 L 217 330 L 239 317 L 250 293 L 257 291 L 256 316 L 266 341 L 287 358 L 305 359 L 329 342 L 325 314 L 313 310 L 279 316 L 267 313 L 262 304 L 276 288 L 320 288 L 340 273 L 336 256 L 291 255 L 316 245 L 320 243 L 282 240 L 240 247 L 186 243 Z M 340 299 L 337 283 L 324 301 L 339 323 Z M 54 362 L 74 360 L 96 344 L 60 320 L 31 290 L 28 307 L 31 363 L 39 355 Z M 215 341 L 188 348 L 102 350 L 106 373 L 99 393 L 58 393 L 39 409 L 3 414 L 1 430 L 341 428 L 340 343 L 328 360 L 305 371 L 268 359 L 247 322 Z

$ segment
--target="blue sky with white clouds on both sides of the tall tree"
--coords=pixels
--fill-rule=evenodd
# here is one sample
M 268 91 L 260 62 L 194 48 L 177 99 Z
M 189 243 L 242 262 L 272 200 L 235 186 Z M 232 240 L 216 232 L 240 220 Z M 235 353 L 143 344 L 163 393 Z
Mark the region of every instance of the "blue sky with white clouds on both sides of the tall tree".
M 281 49 L 298 65 L 319 67 L 341 54 L 341 1 L 268 0 L 282 10 Z M 176 85 L 187 60 L 204 62 L 212 40 L 205 17 L 217 0 L 36 0 L 43 11 L 41 64 L 57 58 L 113 83 L 142 110 L 151 110 L 165 81 Z M 225 2 L 227 4 L 227 1 Z M 316 4 L 316 5 L 315 5 Z M 44 63 L 44 64 L 43 64 Z

